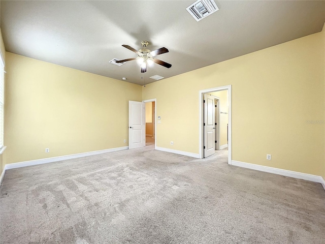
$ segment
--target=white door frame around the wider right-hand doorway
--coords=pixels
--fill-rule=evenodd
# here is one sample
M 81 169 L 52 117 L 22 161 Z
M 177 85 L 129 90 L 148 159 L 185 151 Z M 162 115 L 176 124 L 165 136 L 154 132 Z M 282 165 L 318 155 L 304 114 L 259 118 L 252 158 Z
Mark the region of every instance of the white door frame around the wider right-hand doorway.
M 205 93 L 228 90 L 228 164 L 232 164 L 232 85 L 199 90 L 199 158 L 203 159 L 203 97 Z

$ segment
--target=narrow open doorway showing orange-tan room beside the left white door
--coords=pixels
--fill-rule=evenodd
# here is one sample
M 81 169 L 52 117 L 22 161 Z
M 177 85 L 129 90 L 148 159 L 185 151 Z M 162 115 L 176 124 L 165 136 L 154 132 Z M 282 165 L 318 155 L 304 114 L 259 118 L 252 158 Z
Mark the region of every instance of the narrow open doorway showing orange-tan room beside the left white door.
M 146 109 L 146 146 L 156 145 L 156 99 L 144 100 Z

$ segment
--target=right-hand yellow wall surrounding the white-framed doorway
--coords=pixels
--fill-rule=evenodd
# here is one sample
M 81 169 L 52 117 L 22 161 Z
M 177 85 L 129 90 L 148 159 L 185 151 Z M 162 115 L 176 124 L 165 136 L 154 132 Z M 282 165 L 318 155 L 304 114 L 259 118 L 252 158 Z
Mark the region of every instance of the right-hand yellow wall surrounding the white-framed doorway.
M 143 87 L 157 146 L 198 154 L 199 90 L 231 84 L 232 159 L 324 177 L 323 32 Z

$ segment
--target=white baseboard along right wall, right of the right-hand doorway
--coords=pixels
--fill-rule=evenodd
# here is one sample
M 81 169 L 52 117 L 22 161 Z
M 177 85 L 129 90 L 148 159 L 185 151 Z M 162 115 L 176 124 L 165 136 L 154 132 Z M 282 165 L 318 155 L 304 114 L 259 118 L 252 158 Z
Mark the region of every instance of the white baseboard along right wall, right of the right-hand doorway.
M 268 166 L 263 166 L 263 165 L 256 165 L 256 164 L 249 164 L 249 163 L 244 163 L 240 161 L 235 161 L 232 160 L 232 165 L 243 167 L 243 168 L 248 168 L 248 169 L 254 169 L 258 171 L 263 171 L 263 172 L 268 172 L 268 173 L 273 173 L 273 174 L 279 174 L 283 176 L 288 176 L 288 177 L 293 177 L 297 179 L 304 179 L 304 180 L 309 180 L 313 182 L 320 183 L 322 187 L 325 190 L 325 181 L 323 177 L 313 175 L 313 174 L 305 174 L 305 173 L 300 173 L 300 172 L 295 172 L 295 171 L 290 171 L 290 170 L 285 170 L 285 169 L 278 169 L 278 168 L 272 168 Z

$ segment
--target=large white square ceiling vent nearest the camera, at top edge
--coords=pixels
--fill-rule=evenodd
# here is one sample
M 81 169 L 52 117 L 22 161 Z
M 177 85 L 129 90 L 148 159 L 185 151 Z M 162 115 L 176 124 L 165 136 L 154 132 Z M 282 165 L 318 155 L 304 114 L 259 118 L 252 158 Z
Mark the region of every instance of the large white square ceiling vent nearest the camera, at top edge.
M 218 11 L 219 8 L 213 0 L 198 0 L 194 4 L 188 6 L 186 10 L 194 19 L 200 21 L 208 15 Z

